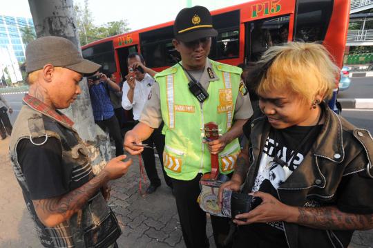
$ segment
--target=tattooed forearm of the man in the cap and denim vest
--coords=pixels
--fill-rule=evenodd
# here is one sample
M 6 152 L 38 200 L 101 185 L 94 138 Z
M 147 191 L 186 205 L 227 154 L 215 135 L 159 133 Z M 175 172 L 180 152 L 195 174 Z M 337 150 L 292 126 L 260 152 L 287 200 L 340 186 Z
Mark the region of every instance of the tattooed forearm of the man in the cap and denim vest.
M 43 217 L 55 216 L 56 225 L 67 220 L 74 213 L 82 209 L 84 204 L 97 193 L 97 191 L 108 181 L 108 172 L 102 171 L 95 178 L 61 198 L 33 200 L 35 210 L 41 220 Z M 56 216 L 57 215 L 57 216 Z

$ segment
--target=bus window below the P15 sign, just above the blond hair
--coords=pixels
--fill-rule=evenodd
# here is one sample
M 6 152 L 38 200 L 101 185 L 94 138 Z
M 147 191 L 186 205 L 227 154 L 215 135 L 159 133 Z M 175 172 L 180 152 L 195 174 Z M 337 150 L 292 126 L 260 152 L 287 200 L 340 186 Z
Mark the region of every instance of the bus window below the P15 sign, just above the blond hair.
M 247 23 L 246 39 L 249 45 L 249 61 L 258 61 L 271 46 L 287 42 L 289 16 L 252 21 Z

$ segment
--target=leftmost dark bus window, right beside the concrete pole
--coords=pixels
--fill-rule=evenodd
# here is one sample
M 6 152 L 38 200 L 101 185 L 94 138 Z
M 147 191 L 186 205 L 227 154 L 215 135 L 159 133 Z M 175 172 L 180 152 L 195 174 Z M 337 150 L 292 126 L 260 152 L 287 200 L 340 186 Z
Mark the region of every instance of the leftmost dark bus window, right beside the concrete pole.
M 107 41 L 102 44 L 97 44 L 82 50 L 84 59 L 94 61 L 100 64 L 104 70 L 115 73 L 117 68 L 115 66 L 115 56 L 113 49 L 113 41 Z

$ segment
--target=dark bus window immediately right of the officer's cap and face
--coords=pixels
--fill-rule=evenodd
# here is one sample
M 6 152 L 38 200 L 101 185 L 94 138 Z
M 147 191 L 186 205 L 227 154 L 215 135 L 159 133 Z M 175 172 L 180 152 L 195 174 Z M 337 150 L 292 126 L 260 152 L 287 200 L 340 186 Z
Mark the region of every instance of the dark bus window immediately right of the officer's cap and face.
M 211 59 L 229 59 L 239 55 L 240 10 L 213 15 L 213 27 L 218 37 L 211 41 L 209 57 Z

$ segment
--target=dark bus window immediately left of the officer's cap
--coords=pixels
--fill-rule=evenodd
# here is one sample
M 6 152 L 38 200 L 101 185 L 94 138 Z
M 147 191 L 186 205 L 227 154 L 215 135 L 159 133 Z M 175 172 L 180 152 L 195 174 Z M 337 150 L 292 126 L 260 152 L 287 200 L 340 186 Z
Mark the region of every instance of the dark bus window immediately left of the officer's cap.
M 140 33 L 141 52 L 147 66 L 157 68 L 175 64 L 169 57 L 172 39 L 173 26 Z

